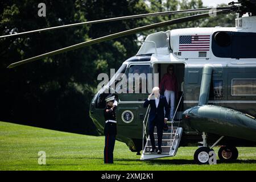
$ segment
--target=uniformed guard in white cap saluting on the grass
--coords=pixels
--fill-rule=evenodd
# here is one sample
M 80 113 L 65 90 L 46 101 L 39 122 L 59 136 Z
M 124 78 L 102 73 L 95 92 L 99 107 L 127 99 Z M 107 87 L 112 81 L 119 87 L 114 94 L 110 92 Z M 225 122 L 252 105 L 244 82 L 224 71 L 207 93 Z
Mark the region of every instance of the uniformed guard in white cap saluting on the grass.
M 106 107 L 104 109 L 105 117 L 105 147 L 104 147 L 104 163 L 113 163 L 113 152 L 115 146 L 115 135 L 117 135 L 117 121 L 115 110 L 118 102 L 115 96 L 108 96 L 106 98 Z

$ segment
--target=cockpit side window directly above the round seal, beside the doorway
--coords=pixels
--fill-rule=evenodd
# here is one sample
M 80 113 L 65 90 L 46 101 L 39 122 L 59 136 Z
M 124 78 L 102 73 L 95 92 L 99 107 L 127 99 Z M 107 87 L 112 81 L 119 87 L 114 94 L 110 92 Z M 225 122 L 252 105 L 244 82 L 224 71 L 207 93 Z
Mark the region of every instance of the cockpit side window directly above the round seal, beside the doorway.
M 150 65 L 131 65 L 127 73 L 127 93 L 147 93 L 147 74 Z

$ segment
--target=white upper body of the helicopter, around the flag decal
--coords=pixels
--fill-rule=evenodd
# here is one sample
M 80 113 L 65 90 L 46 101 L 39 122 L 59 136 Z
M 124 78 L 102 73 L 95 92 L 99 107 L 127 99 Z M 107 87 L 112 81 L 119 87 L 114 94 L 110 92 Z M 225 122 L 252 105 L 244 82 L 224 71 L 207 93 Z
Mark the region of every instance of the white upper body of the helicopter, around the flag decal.
M 256 32 L 256 16 L 236 19 L 236 27 L 197 27 L 160 31 L 147 36 L 137 55 L 152 54 L 151 62 L 184 62 L 193 66 L 214 63 L 218 66 L 238 65 L 238 60 L 216 57 L 212 53 L 212 35 L 217 31 Z M 185 47 L 196 40 L 196 46 Z M 241 61 L 245 60 L 244 64 Z M 249 60 L 249 62 L 248 62 Z M 247 63 L 246 63 L 247 61 Z M 242 66 L 256 64 L 256 59 L 240 59 Z

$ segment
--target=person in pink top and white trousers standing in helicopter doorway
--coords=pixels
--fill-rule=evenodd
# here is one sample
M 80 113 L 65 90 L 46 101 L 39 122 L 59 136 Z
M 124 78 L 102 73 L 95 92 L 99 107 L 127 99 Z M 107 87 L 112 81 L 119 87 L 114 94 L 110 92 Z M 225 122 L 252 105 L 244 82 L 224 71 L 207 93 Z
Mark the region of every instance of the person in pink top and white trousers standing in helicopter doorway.
M 167 73 L 164 74 L 159 84 L 160 90 L 164 91 L 167 103 L 171 100 L 170 119 L 174 117 L 174 101 L 177 98 L 177 78 L 174 75 L 174 66 L 168 65 Z

